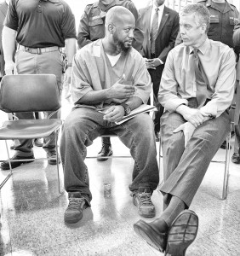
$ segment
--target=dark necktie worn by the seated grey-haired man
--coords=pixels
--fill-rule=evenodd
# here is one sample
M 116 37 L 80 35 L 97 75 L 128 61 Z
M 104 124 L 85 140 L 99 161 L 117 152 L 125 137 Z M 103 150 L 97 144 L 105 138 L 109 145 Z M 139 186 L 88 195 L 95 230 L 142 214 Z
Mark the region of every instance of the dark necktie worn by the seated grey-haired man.
M 195 69 L 195 78 L 196 78 L 196 85 L 197 85 L 197 104 L 198 108 L 203 107 L 204 102 L 207 99 L 207 84 L 203 79 L 203 68 L 201 67 L 201 62 L 199 61 L 199 57 L 197 55 L 198 49 L 193 49 L 194 55 L 194 69 Z

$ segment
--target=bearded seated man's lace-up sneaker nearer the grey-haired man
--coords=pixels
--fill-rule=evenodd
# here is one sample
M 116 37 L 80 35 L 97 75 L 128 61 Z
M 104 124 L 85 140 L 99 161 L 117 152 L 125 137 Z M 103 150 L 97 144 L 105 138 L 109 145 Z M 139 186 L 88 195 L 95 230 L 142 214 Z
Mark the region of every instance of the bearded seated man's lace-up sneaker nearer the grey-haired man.
M 140 187 L 138 191 L 133 194 L 134 206 L 138 207 L 140 216 L 145 218 L 155 217 L 155 207 L 151 201 L 151 190 L 150 188 Z

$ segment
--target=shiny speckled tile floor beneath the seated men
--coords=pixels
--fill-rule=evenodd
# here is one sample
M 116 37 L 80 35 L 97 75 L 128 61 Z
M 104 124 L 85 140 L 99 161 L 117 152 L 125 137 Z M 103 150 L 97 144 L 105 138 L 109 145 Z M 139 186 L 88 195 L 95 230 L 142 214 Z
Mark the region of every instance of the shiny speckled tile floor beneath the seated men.
M 66 105 L 63 116 L 69 110 Z M 0 113 L 0 122 L 6 118 Z M 117 138 L 111 142 L 114 154 L 129 154 Z M 99 149 L 100 139 L 97 139 L 89 147 L 88 155 L 97 154 Z M 0 152 L 1 159 L 6 158 L 3 142 Z M 43 148 L 35 147 L 34 152 L 36 157 L 44 156 Z M 224 160 L 224 157 L 225 150 L 220 149 L 214 159 Z M 134 234 L 133 224 L 140 219 L 128 189 L 134 161 L 117 158 L 86 162 L 93 201 L 77 224 L 63 221 L 68 201 L 66 193 L 58 193 L 55 166 L 49 166 L 46 160 L 36 160 L 14 169 L 14 175 L 0 190 L 1 256 L 163 255 Z M 230 165 L 226 201 L 220 200 L 223 170 L 224 164 L 211 163 L 192 202 L 191 209 L 197 212 L 200 224 L 187 256 L 240 255 L 240 166 Z M 7 173 L 0 171 L 0 181 Z M 111 198 L 104 197 L 104 183 L 111 183 Z M 162 212 L 162 200 L 162 195 L 155 191 L 152 201 L 157 216 Z

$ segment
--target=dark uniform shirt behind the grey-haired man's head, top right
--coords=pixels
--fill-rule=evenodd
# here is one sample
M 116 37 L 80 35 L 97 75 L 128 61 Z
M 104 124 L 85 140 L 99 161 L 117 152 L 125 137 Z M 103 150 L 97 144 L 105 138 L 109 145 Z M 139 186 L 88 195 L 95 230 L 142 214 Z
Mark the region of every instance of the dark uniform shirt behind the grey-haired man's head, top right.
M 209 9 L 210 26 L 208 38 L 220 41 L 233 48 L 233 28 L 237 24 L 239 15 L 237 8 L 227 1 L 224 9 L 221 9 L 219 3 L 214 3 L 212 0 L 200 0 L 197 3 L 201 3 Z

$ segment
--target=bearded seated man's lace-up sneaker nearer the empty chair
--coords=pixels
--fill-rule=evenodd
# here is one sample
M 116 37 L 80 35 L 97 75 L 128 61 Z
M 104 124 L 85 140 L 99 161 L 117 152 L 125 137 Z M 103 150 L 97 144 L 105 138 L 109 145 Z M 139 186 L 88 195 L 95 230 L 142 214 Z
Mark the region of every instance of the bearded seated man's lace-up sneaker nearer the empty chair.
M 85 199 L 80 192 L 68 193 L 69 204 L 64 213 L 64 220 L 66 223 L 77 223 L 83 218 L 83 208 Z

